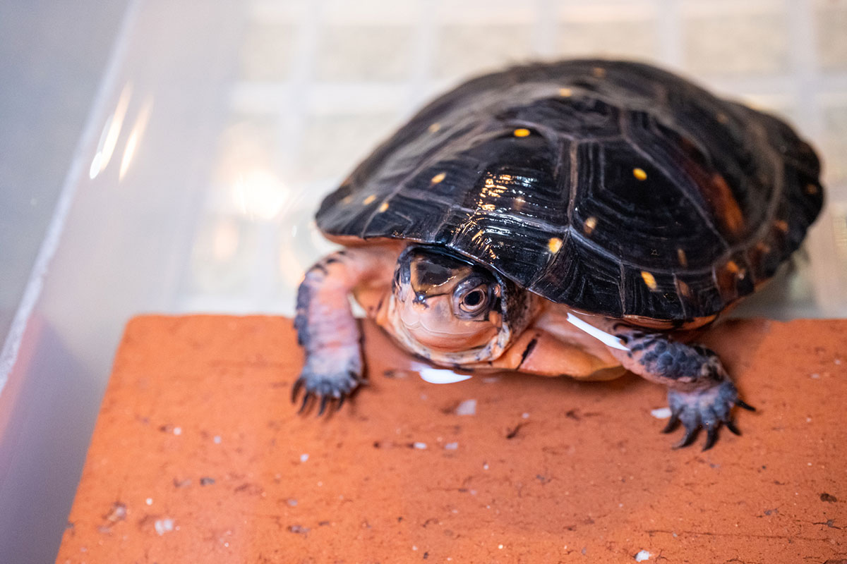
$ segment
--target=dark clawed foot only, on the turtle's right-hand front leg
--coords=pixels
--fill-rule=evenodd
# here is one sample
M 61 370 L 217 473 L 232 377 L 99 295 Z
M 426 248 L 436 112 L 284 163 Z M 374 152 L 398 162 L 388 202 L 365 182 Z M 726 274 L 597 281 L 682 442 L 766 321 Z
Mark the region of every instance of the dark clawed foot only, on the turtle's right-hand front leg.
M 694 392 L 668 390 L 667 402 L 671 407 L 671 419 L 668 420 L 662 432 L 673 431 L 679 422 L 682 422 L 685 428 L 685 435 L 673 448 L 692 444 L 702 428 L 706 429 L 706 443 L 703 450 L 707 451 L 715 445 L 721 425 L 726 425 L 734 435 L 741 435 L 734 420 L 729 416 L 734 405 L 755 411 L 755 408 L 739 399 L 738 390 L 728 380 Z

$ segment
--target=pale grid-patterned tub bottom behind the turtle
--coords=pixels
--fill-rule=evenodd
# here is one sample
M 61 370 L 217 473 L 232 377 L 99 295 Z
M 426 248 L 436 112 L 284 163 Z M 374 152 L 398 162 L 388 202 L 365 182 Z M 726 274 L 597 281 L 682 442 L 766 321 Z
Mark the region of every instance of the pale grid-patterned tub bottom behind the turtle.
M 676 69 L 813 140 L 831 205 L 812 264 L 753 310 L 844 315 L 845 30 L 844 0 L 254 1 L 180 308 L 290 312 L 326 249 L 308 219 L 320 198 L 416 107 L 485 70 L 597 55 Z

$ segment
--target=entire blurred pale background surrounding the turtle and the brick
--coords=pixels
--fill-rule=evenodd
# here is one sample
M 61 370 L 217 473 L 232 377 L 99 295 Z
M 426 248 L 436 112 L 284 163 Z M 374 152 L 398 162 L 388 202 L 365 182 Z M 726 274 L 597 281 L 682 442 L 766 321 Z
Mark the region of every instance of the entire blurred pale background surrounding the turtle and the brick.
M 847 0 L 3 0 L 0 561 L 54 558 L 126 320 L 291 315 L 322 196 L 470 74 L 638 59 L 787 118 L 828 205 L 734 315 L 847 316 L 845 30 Z

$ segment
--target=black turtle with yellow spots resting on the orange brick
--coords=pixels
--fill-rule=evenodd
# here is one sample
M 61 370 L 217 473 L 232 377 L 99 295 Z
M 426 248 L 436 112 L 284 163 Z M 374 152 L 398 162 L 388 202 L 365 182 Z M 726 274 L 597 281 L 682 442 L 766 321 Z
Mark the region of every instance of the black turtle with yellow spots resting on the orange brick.
M 319 206 L 292 387 L 318 415 L 363 381 L 349 295 L 454 370 L 667 386 L 704 450 L 753 409 L 692 342 L 777 272 L 822 208 L 820 161 L 779 118 L 647 63 L 526 63 L 414 115 Z M 328 412 L 329 413 L 329 412 Z

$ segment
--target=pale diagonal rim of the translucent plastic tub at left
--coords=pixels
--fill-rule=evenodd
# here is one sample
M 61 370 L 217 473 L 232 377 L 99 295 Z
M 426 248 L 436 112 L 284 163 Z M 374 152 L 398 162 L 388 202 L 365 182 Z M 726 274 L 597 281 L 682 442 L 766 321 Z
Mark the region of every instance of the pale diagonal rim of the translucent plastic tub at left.
M 47 234 L 44 236 L 42 245 L 38 249 L 35 264 L 32 266 L 29 280 L 26 282 L 24 295 L 20 299 L 20 304 L 15 312 L 12 325 L 9 328 L 5 342 L 3 342 L 3 349 L 0 350 L 0 393 L 3 393 L 8 376 L 18 359 L 20 344 L 24 339 L 26 326 L 36 307 L 38 298 L 41 297 L 44 278 L 47 276 L 47 269 L 53 260 L 53 255 L 56 254 L 70 206 L 74 202 L 77 181 L 91 164 L 91 155 L 86 155 L 83 151 L 86 147 L 91 146 L 100 134 L 100 123 L 98 123 L 97 118 L 102 115 L 102 109 L 108 101 L 108 96 L 115 90 L 120 65 L 124 61 L 130 43 L 130 29 L 136 20 L 140 4 L 141 0 L 130 0 L 130 5 L 126 8 L 124 17 L 121 20 L 118 35 L 109 55 L 105 72 L 100 80 L 100 85 L 97 87 L 97 95 L 91 104 L 91 110 L 88 112 L 88 118 L 86 118 L 86 125 L 82 130 L 80 141 L 74 151 L 74 159 L 70 163 L 68 173 L 65 175 L 62 188 L 59 191 L 56 208 L 53 211 L 53 218 L 47 227 Z

